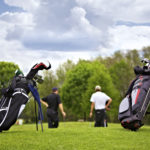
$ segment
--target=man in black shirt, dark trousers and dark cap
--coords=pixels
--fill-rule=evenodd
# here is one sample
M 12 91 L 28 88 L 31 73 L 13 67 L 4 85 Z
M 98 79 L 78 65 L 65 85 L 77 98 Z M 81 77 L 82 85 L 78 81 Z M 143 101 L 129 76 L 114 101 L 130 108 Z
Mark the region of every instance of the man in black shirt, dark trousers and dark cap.
M 63 117 L 66 117 L 63 104 L 61 103 L 60 96 L 58 94 L 58 89 L 53 88 L 52 93 L 47 97 L 42 98 L 41 102 L 47 107 L 48 127 L 57 128 L 59 125 L 58 107 Z

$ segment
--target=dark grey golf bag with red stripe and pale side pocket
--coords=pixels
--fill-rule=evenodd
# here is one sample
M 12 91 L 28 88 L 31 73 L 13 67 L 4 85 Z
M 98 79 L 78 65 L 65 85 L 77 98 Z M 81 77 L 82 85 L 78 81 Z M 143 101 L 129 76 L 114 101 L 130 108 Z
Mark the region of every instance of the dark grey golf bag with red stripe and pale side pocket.
M 150 103 L 150 68 L 137 66 L 134 68 L 136 78 L 130 84 L 126 97 L 119 106 L 118 119 L 121 125 L 133 131 L 139 129 Z

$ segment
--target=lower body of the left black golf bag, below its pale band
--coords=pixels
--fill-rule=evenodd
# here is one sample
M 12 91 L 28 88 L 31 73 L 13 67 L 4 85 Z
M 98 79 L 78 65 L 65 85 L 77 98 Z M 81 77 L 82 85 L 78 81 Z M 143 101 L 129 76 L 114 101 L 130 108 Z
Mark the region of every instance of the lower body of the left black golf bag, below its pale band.
M 19 91 L 20 90 L 20 91 Z M 22 90 L 22 91 L 21 91 Z M 0 100 L 0 130 L 8 130 L 20 116 L 28 102 L 28 95 L 23 89 L 15 90 L 12 96 L 3 96 Z

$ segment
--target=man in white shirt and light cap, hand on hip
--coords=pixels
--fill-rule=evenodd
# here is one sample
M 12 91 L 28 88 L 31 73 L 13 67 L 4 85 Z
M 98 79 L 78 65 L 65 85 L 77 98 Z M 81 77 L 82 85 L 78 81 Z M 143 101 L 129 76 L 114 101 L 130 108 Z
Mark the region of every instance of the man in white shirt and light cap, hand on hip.
M 106 110 L 110 110 L 109 105 L 112 99 L 101 92 L 101 87 L 95 87 L 95 93 L 92 94 L 90 118 L 93 116 L 93 109 L 95 108 L 95 127 L 106 127 Z

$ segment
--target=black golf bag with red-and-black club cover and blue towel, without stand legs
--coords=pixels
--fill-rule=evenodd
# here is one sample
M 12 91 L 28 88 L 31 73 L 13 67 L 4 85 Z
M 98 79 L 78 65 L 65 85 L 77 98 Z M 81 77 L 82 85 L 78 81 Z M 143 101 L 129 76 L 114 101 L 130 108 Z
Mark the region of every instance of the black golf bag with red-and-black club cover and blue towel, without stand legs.
M 29 100 L 28 94 L 30 91 L 34 97 L 38 97 L 36 99 L 39 99 L 37 91 L 33 89 L 33 87 L 36 87 L 34 77 L 39 70 L 47 70 L 49 68 L 50 65 L 47 67 L 43 63 L 36 64 L 31 68 L 26 77 L 15 76 L 10 86 L 3 89 L 3 95 L 0 99 L 0 131 L 8 130 L 15 124 Z

